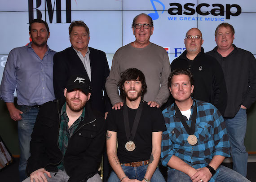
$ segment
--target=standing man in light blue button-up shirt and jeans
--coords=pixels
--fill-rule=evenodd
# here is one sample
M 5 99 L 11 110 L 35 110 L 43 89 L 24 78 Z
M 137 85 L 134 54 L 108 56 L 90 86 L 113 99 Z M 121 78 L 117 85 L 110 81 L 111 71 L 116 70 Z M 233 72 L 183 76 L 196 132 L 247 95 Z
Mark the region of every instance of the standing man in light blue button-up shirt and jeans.
M 0 98 L 6 103 L 10 117 L 18 121 L 20 181 L 26 178 L 30 135 L 39 108 L 45 102 L 55 99 L 53 56 L 56 52 L 47 46 L 47 39 L 50 36 L 47 23 L 41 19 L 34 19 L 29 25 L 29 35 L 32 42 L 14 48 L 9 53 L 0 86 Z M 15 89 L 18 108 L 14 105 Z

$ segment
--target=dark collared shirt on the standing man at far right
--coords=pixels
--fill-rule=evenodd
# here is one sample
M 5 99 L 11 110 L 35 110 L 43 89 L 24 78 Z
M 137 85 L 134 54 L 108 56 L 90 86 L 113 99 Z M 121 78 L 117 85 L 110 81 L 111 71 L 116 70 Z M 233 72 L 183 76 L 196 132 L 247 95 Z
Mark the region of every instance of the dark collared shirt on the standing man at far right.
M 256 101 L 256 59 L 251 52 L 237 48 L 226 57 L 217 52 L 217 47 L 207 52 L 221 64 L 228 92 L 225 117 L 234 117 L 241 104 L 249 108 Z

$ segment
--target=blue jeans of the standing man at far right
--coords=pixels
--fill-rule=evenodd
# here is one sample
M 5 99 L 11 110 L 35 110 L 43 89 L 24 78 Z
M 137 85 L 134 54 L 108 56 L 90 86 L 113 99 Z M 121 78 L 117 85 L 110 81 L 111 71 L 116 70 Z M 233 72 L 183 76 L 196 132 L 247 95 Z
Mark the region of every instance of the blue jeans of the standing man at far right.
M 233 169 L 246 177 L 248 153 L 244 146 L 247 128 L 246 109 L 240 108 L 233 118 L 225 118 L 226 128 L 230 138 Z

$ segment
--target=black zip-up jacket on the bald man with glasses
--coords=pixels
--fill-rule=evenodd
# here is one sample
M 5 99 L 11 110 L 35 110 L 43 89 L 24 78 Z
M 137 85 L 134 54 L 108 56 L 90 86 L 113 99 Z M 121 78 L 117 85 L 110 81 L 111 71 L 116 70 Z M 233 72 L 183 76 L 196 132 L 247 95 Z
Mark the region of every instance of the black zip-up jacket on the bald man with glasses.
M 171 63 L 171 70 L 190 69 L 194 76 L 194 99 L 213 104 L 223 115 L 227 105 L 227 90 L 221 65 L 203 48 L 193 61 L 186 57 L 185 50 Z

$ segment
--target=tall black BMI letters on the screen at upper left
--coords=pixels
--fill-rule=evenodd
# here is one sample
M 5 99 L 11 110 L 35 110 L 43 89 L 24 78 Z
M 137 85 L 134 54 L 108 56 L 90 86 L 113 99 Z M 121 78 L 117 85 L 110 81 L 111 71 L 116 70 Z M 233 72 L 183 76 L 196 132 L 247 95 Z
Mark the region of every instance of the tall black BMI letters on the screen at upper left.
M 28 22 L 31 22 L 34 19 L 34 11 L 36 12 L 36 17 L 42 19 L 42 10 L 40 6 L 44 6 L 44 20 L 47 20 L 47 12 L 49 17 L 49 23 L 53 23 L 53 13 L 56 12 L 56 23 L 62 23 L 62 11 L 61 2 L 66 4 L 66 23 L 71 23 L 71 0 L 54 0 L 52 5 L 52 0 L 44 0 L 42 4 L 42 0 L 36 0 L 36 7 L 34 7 L 34 0 L 28 0 Z M 55 8 L 56 7 L 56 8 Z

